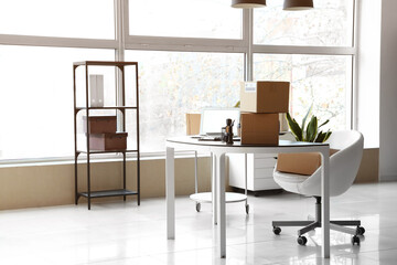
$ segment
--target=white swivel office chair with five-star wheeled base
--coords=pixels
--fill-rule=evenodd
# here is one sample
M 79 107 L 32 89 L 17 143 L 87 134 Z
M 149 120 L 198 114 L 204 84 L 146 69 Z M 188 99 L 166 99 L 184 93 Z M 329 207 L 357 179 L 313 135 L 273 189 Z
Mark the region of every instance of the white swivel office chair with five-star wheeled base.
M 332 132 L 330 139 L 331 149 L 339 151 L 330 157 L 330 195 L 336 197 L 353 184 L 357 174 L 358 167 L 363 156 L 363 135 L 355 130 L 344 130 Z M 305 245 L 307 239 L 302 234 L 316 227 L 321 227 L 321 167 L 312 176 L 301 176 L 273 171 L 275 181 L 285 190 L 315 198 L 315 218 L 314 221 L 273 221 L 273 233 L 281 232 L 280 226 L 304 226 L 298 230 L 298 243 Z M 356 226 L 348 229 L 345 226 Z M 365 233 L 361 226 L 361 221 L 330 221 L 330 227 L 340 232 L 352 234 L 353 245 L 360 245 L 360 237 Z

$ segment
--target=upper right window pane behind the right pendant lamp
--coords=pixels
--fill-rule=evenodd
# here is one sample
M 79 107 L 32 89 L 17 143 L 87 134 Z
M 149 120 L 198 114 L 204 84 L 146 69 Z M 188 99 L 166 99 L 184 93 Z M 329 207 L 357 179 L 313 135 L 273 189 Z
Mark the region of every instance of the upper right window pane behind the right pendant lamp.
M 352 46 L 353 0 L 314 0 L 309 11 L 283 11 L 282 1 L 255 9 L 254 43 L 268 45 Z

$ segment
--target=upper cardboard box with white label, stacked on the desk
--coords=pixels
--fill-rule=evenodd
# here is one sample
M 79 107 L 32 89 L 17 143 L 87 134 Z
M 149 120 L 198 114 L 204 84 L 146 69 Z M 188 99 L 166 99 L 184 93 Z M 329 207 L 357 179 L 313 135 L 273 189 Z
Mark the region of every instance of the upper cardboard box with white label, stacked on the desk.
M 289 87 L 289 82 L 245 82 L 240 89 L 240 110 L 288 113 Z

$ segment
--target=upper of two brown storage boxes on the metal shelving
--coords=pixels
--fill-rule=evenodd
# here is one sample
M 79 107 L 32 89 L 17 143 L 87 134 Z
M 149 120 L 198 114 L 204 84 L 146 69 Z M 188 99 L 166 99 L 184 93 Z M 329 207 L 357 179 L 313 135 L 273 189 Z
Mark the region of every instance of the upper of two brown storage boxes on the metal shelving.
M 89 116 L 89 134 L 115 134 L 117 130 L 116 116 Z M 83 116 L 84 132 L 87 132 L 87 117 Z

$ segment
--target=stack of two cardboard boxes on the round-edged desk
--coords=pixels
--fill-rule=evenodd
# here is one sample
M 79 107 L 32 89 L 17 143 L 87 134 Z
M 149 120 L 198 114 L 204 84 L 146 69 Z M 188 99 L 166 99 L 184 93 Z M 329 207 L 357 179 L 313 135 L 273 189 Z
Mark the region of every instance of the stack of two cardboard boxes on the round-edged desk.
M 289 82 L 246 82 L 240 89 L 242 144 L 277 146 L 279 114 L 288 113 Z

